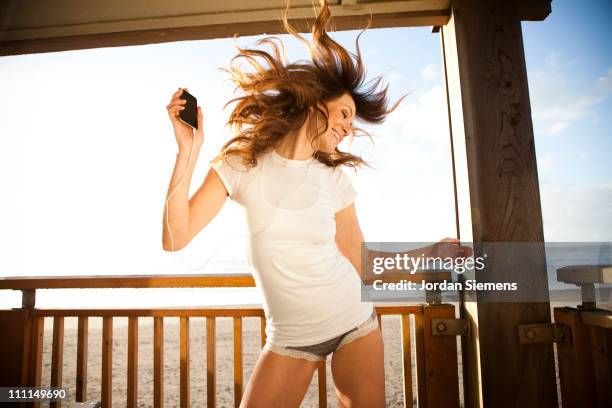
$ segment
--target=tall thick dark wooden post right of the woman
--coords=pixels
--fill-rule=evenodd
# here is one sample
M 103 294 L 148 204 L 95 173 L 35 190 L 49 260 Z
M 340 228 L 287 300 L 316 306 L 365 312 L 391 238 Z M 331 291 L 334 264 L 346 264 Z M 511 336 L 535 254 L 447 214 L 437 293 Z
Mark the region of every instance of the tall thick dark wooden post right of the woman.
M 521 20 L 545 18 L 550 0 L 451 4 L 442 38 L 461 239 L 537 247 L 544 236 Z M 462 342 L 466 407 L 557 406 L 552 344 L 520 345 L 516 335 L 519 324 L 550 322 L 543 245 L 527 258 L 488 259 L 475 279 L 529 282 L 540 302 L 485 302 L 477 293 L 461 305 L 473 333 Z

